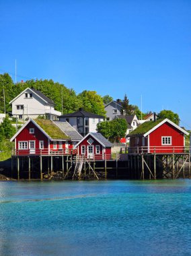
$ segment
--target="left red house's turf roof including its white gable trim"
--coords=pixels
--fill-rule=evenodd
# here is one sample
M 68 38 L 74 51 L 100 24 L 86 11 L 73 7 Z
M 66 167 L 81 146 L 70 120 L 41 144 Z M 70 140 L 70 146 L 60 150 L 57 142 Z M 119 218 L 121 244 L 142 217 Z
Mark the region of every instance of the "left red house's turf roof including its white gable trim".
M 17 131 L 17 133 L 15 133 L 15 135 L 13 137 L 11 137 L 10 141 L 13 141 L 13 139 L 15 139 L 15 137 L 17 137 L 17 135 L 20 134 L 20 132 L 28 125 L 28 123 L 34 123 L 34 125 L 36 125 L 36 127 L 38 127 L 38 129 L 40 129 L 40 131 L 42 131 L 42 133 L 44 133 L 44 135 L 46 137 L 48 137 L 48 139 L 50 140 L 68 140 L 70 139 L 70 137 L 68 135 L 66 135 L 63 131 L 61 131 L 61 129 L 59 129 L 59 127 L 57 127 L 51 120 L 46 120 L 46 119 L 36 119 L 35 121 L 33 119 L 29 119 L 22 127 L 21 129 L 19 129 L 19 131 Z

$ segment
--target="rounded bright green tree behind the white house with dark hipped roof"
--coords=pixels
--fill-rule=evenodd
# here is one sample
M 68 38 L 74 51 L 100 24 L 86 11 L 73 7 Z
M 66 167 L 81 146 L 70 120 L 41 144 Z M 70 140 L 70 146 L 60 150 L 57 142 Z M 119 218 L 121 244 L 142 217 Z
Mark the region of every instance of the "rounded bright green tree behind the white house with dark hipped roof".
M 97 92 L 84 90 L 78 95 L 78 97 L 79 100 L 81 100 L 85 111 L 97 115 L 106 115 L 102 96 L 97 94 Z

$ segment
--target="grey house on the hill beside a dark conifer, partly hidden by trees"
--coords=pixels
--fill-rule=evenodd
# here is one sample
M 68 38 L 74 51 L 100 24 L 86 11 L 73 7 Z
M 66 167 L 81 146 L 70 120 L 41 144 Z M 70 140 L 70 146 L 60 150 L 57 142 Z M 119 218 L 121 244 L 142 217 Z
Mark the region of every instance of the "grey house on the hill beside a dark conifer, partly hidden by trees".
M 104 106 L 106 110 L 106 121 L 111 121 L 115 119 L 117 116 L 121 115 L 122 112 L 122 104 L 118 101 L 111 101 L 110 103 Z

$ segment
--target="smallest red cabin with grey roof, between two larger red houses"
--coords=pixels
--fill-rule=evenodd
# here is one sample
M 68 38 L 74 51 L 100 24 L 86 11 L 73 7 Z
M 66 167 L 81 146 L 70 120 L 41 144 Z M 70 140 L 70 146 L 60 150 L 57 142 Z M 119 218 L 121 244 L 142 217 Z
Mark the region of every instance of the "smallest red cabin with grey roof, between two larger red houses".
M 111 158 L 112 146 L 101 133 L 88 133 L 77 143 L 76 148 L 78 154 L 85 158 L 103 160 Z

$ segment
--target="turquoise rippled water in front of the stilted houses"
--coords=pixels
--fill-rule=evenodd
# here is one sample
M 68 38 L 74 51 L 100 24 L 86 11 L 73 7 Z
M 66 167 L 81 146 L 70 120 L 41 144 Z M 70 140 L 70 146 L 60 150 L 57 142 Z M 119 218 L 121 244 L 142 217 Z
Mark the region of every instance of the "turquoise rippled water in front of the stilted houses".
M 0 255 L 191 255 L 191 181 L 1 182 Z

